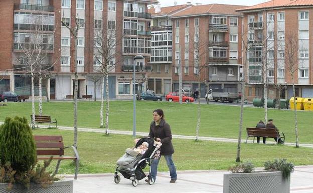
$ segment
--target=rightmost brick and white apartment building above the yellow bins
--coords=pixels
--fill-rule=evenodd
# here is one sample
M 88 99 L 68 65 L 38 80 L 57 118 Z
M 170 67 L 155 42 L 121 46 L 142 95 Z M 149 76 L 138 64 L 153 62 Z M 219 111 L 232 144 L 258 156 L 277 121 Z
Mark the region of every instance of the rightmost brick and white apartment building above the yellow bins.
M 296 96 L 313 97 L 313 2 L 268 1 L 237 11 L 244 15 L 244 42 L 248 45 L 248 58 L 244 57 L 247 98 L 263 97 L 265 82 L 268 98 L 293 96 L 291 47 Z

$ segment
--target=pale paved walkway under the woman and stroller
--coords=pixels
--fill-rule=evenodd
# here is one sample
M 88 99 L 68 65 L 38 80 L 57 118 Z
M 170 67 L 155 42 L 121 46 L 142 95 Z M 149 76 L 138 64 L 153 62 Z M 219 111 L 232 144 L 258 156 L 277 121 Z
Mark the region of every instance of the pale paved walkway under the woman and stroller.
M 227 171 L 178 171 L 176 183 L 169 183 L 168 172 L 158 172 L 154 185 L 149 185 L 143 180 L 137 187 L 131 181 L 121 177 L 119 184 L 114 183 L 113 173 L 78 175 L 74 180 L 75 193 L 98 192 L 182 192 L 182 193 L 222 193 L 223 174 Z M 73 176 L 67 176 L 71 179 Z M 291 193 L 313 192 L 313 165 L 297 166 L 291 174 Z M 252 192 L 251 192 L 252 193 Z

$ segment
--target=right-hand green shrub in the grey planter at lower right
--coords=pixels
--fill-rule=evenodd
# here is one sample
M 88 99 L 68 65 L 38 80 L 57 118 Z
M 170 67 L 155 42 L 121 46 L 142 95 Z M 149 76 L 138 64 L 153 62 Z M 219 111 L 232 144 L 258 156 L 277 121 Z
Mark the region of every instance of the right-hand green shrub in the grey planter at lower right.
M 265 170 L 281 171 L 284 179 L 289 179 L 290 174 L 294 171 L 294 164 L 287 162 L 286 159 L 275 159 L 274 161 L 266 161 Z

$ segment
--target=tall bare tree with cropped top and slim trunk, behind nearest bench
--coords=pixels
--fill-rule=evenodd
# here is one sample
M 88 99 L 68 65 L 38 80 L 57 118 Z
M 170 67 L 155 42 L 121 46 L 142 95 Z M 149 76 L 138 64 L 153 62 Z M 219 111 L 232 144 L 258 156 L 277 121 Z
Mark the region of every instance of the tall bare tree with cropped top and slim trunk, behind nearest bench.
M 64 14 L 64 13 L 63 13 Z M 71 26 L 69 26 L 69 23 L 65 22 L 65 21 L 61 21 L 62 25 L 67 27 L 70 31 L 71 34 L 71 38 L 73 38 L 74 40 L 74 46 L 73 46 L 73 50 L 74 50 L 74 69 L 75 69 L 75 73 L 74 73 L 74 147 L 77 149 L 77 134 L 78 134 L 78 130 L 77 130 L 77 92 L 78 92 L 78 74 L 77 74 L 77 36 L 78 36 L 78 30 L 84 26 L 84 23 L 80 23 L 79 22 L 79 17 L 74 16 L 74 21 L 75 23 L 72 24 Z

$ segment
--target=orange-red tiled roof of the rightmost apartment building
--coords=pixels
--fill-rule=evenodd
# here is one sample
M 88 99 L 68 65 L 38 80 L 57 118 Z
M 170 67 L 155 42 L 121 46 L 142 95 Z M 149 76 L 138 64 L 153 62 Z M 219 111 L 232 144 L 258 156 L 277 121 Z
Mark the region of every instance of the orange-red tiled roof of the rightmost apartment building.
M 254 6 L 247 6 L 242 9 L 238 9 L 236 11 L 248 11 L 248 10 L 257 10 L 264 8 L 277 8 L 277 7 L 291 7 L 291 6 L 313 6 L 312 0 L 272 0 L 268 2 L 264 2 L 261 4 L 257 4 Z

